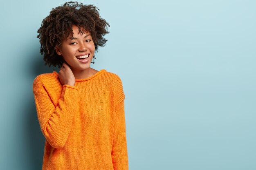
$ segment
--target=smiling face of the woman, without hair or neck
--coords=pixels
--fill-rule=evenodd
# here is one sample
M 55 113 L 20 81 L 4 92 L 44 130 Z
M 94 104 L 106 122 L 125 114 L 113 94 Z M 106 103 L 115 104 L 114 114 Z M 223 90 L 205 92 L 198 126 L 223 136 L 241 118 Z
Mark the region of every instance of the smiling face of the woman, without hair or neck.
M 63 56 L 72 71 L 84 71 L 90 68 L 94 56 L 92 35 L 81 28 L 84 33 L 82 34 L 76 25 L 72 26 L 72 30 L 74 38 L 63 39 L 61 45 L 56 48 L 56 53 Z

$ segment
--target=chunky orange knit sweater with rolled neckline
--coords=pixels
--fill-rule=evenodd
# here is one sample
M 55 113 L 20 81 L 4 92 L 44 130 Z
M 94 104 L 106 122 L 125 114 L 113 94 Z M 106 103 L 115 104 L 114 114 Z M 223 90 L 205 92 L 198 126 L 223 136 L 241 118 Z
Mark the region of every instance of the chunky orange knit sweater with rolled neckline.
M 75 86 L 38 75 L 33 92 L 45 136 L 43 170 L 128 170 L 121 79 L 101 70 Z

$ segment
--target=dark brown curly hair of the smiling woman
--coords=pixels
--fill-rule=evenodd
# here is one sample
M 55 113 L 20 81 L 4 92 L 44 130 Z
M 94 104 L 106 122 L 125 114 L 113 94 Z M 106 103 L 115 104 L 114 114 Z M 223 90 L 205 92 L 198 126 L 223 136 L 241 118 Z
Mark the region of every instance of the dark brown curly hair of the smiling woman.
M 104 38 L 108 32 L 109 24 L 99 15 L 99 9 L 94 5 L 84 5 L 78 2 L 66 2 L 63 6 L 53 8 L 50 14 L 43 19 L 38 29 L 37 38 L 40 39 L 40 53 L 45 65 L 60 67 L 64 62 L 55 49 L 61 45 L 64 38 L 73 37 L 72 26 L 76 25 L 79 32 L 84 33 L 81 28 L 90 31 L 94 42 L 95 51 L 98 46 L 105 46 L 107 40 Z M 95 57 L 95 56 L 94 56 Z

